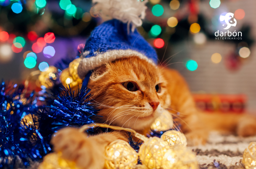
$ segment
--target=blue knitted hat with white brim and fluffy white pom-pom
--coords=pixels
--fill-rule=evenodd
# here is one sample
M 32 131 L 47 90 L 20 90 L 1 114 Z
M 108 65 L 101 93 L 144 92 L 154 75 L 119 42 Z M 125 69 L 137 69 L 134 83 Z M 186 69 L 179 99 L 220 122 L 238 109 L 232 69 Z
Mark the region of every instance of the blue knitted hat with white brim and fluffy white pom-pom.
M 135 28 L 142 24 L 141 19 L 145 17 L 147 1 L 93 0 L 93 2 L 98 2 L 94 6 L 94 12 L 98 12 L 97 14 L 103 19 L 107 16 L 107 19 L 111 20 L 97 26 L 86 41 L 78 66 L 78 75 L 81 79 L 84 79 L 90 70 L 118 58 L 137 56 L 152 64 L 157 63 L 155 49 Z

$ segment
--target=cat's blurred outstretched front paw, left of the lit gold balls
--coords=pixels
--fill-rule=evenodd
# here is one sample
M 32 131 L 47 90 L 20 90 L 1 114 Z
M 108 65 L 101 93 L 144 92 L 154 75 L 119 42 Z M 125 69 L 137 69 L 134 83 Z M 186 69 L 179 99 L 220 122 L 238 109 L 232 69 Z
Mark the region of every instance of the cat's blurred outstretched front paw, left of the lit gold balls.
M 55 152 L 62 152 L 63 158 L 74 161 L 81 169 L 102 169 L 104 166 L 104 147 L 78 129 L 59 130 L 51 143 Z

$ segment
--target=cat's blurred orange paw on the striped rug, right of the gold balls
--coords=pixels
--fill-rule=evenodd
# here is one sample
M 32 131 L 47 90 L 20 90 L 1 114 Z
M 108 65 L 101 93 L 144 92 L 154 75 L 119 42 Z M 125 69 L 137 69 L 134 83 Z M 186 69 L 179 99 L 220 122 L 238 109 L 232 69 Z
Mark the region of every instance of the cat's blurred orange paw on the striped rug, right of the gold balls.
M 206 130 L 195 130 L 185 134 L 188 146 L 204 145 L 208 139 Z

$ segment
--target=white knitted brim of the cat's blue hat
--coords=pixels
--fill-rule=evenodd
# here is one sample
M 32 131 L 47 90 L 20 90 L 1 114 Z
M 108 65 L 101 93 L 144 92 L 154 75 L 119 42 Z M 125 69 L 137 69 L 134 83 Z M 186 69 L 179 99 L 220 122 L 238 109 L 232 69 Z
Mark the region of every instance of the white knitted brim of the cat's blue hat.
M 87 55 L 88 51 L 85 51 L 83 53 L 84 55 Z M 143 55 L 140 52 L 137 52 L 135 50 L 127 49 L 127 50 L 110 50 L 107 52 L 104 52 L 102 54 L 98 54 L 97 56 L 92 56 L 89 58 L 82 58 L 79 66 L 77 68 L 78 76 L 81 79 L 84 79 L 84 77 L 87 75 L 87 73 L 90 70 L 93 70 L 97 67 L 100 67 L 101 65 L 105 63 L 112 62 L 119 58 L 128 58 L 132 56 L 137 56 L 140 59 L 146 60 L 148 63 L 156 66 L 156 64 L 149 58 L 147 58 L 145 55 Z

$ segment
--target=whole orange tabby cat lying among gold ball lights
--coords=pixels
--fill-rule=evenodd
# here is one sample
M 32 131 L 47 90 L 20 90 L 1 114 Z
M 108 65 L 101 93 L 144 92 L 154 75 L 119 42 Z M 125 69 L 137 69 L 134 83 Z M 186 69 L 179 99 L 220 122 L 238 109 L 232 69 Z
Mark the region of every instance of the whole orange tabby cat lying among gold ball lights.
M 182 132 L 192 144 L 205 143 L 208 131 L 217 129 L 241 136 L 256 134 L 256 120 L 245 115 L 205 114 L 195 108 L 184 78 L 175 70 L 156 67 L 137 57 L 122 58 L 95 70 L 88 87 L 100 107 L 97 122 L 149 132 L 151 123 L 167 109 L 179 112 Z M 176 116 L 176 115 L 175 115 Z M 105 147 L 116 139 L 127 140 L 113 131 L 87 137 L 78 129 L 60 130 L 52 138 L 55 151 L 75 161 L 82 169 L 102 169 Z

